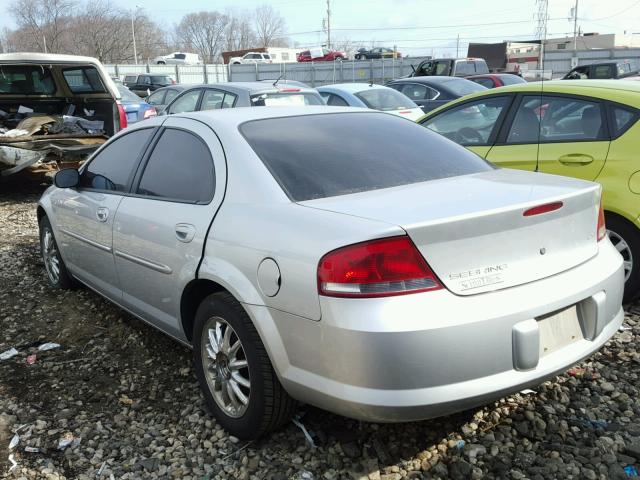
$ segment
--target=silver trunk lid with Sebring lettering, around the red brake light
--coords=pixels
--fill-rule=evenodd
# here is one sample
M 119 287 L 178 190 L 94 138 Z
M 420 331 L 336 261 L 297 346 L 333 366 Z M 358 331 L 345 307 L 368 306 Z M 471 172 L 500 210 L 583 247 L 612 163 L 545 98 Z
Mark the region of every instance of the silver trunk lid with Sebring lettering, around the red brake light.
M 524 216 L 532 207 L 554 211 Z M 402 227 L 442 283 L 458 295 L 508 288 L 596 255 L 600 186 L 498 169 L 301 205 Z

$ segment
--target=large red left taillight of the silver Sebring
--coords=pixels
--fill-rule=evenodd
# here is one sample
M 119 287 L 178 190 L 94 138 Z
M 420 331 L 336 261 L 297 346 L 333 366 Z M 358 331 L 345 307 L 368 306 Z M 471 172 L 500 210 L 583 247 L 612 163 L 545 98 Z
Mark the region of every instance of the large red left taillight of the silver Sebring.
M 322 257 L 318 265 L 318 293 L 330 297 L 387 297 L 440 288 L 407 236 L 339 248 Z

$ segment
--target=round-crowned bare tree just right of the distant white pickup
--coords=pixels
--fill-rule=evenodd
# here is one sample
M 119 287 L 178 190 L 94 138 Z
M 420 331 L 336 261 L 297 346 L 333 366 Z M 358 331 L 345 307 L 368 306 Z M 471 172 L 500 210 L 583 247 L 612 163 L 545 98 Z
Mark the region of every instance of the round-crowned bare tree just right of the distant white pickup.
M 195 49 L 203 61 L 214 63 L 222 51 L 228 24 L 229 17 L 220 12 L 190 13 L 182 17 L 176 34 L 180 42 Z

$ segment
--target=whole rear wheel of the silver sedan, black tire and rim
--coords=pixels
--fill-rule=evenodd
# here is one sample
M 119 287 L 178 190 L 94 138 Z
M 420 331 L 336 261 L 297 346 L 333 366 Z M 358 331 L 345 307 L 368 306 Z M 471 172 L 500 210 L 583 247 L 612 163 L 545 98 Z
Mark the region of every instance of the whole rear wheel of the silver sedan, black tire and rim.
M 291 418 L 296 402 L 280 384 L 258 331 L 231 294 L 217 292 L 202 301 L 193 333 L 198 381 L 226 431 L 250 440 Z

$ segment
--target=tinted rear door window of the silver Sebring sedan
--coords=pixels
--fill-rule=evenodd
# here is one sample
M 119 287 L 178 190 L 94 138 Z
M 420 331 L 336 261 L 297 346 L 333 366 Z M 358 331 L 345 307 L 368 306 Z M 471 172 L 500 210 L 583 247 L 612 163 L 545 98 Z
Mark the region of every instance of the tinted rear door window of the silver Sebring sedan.
M 153 149 L 136 193 L 166 200 L 209 203 L 215 188 L 209 147 L 184 130 L 165 130 Z

